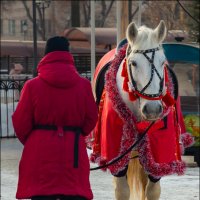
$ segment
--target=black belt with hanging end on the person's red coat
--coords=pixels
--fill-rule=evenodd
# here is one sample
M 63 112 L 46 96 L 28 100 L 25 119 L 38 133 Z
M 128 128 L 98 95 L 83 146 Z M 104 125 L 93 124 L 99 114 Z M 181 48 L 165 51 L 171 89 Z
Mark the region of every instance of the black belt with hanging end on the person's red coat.
M 73 131 L 75 133 L 74 140 L 74 168 L 78 168 L 78 153 L 79 153 L 79 136 L 82 132 L 80 127 L 77 126 L 63 126 L 63 131 Z M 56 125 L 42 125 L 37 124 L 33 128 L 34 130 L 58 130 L 58 126 Z

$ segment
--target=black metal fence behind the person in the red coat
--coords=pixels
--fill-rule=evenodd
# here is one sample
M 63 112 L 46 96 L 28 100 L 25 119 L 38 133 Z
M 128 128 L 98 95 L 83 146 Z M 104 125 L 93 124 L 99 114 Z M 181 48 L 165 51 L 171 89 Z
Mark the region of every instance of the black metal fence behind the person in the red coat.
M 96 63 L 100 60 L 101 56 L 97 56 Z M 90 56 L 74 56 L 75 65 L 79 74 L 87 79 L 91 79 L 91 70 L 90 70 Z M 10 76 L 7 73 L 9 72 L 10 63 L 20 63 L 25 66 L 24 74 L 18 76 Z M 0 74 L 0 138 L 12 138 L 16 137 L 14 129 L 12 126 L 12 114 L 16 109 L 18 104 L 19 96 L 21 89 L 23 88 L 24 83 L 32 78 L 32 58 L 17 58 L 17 57 L 6 57 L 1 58 L 1 66 L 4 67 L 2 70 L 4 73 Z M 29 75 L 28 75 L 29 74 Z

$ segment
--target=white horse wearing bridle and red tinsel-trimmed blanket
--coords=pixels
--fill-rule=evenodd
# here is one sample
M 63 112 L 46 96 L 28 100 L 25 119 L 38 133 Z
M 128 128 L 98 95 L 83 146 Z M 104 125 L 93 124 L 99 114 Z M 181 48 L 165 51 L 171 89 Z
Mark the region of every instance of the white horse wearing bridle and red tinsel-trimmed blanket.
M 108 167 L 114 175 L 116 200 L 159 200 L 160 178 L 172 173 L 183 174 L 184 171 L 177 143 L 180 140 L 180 132 L 176 128 L 179 127 L 176 116 L 180 112 L 180 108 L 179 111 L 175 109 L 177 91 L 174 90 L 171 70 L 166 65 L 161 46 L 166 32 L 164 21 L 154 30 L 145 26 L 138 29 L 135 23 L 129 24 L 126 31 L 128 44 L 119 50 L 118 55 L 111 52 L 104 57 L 95 72 L 96 97 L 100 98 L 99 122 L 94 130 L 93 161 L 100 165 L 112 161 L 140 138 L 144 127 L 148 127 L 152 121 L 157 126 L 151 133 L 146 133 L 135 151 Z M 105 87 L 102 87 L 98 75 L 104 76 L 105 72 Z M 97 94 L 99 86 L 100 95 Z M 166 116 L 171 117 L 167 121 L 170 134 L 163 131 L 166 124 L 160 127 L 162 130 L 158 128 Z M 169 146 L 168 140 L 162 138 L 166 134 L 172 138 Z M 159 138 L 164 144 L 159 144 Z M 156 143 L 164 157 L 168 155 L 168 152 L 165 155 L 166 148 L 176 146 L 173 152 L 169 152 L 172 157 L 167 161 L 162 160 L 162 156 L 154 153 L 159 150 L 157 147 L 153 150 Z M 138 155 L 139 159 L 131 159 L 134 155 Z

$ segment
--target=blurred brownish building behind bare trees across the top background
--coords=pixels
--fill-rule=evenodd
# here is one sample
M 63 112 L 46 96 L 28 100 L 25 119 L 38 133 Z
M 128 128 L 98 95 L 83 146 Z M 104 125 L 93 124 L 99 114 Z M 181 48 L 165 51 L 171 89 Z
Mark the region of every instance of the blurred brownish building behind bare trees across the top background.
M 141 9 L 139 12 L 139 2 Z M 38 40 L 46 40 L 52 35 L 62 34 L 72 27 L 90 27 L 90 1 L 36 0 Z M 185 8 L 198 20 L 199 2 L 181 1 Z M 177 1 L 128 1 L 129 21 L 149 27 L 156 27 L 165 20 L 168 30 L 188 32 L 191 40 L 199 35 L 197 24 L 183 10 Z M 95 2 L 96 27 L 116 27 L 116 0 Z M 1 40 L 32 40 L 32 1 L 1 0 Z M 174 38 L 173 38 L 174 39 Z

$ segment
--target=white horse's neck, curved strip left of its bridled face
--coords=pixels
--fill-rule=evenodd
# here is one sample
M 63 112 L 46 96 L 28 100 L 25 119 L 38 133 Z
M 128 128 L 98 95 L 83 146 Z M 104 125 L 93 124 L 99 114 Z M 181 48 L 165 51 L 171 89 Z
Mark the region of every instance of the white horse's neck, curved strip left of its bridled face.
M 119 95 L 121 96 L 123 102 L 131 110 L 131 112 L 133 112 L 134 115 L 136 117 L 138 117 L 138 116 L 140 116 L 139 115 L 139 102 L 138 102 L 138 100 L 136 100 L 134 102 L 130 101 L 128 93 L 123 90 L 124 77 L 121 76 L 123 62 L 124 61 L 122 61 L 122 63 L 119 66 L 119 69 L 117 71 L 117 77 L 116 77 L 117 88 L 118 88 Z

